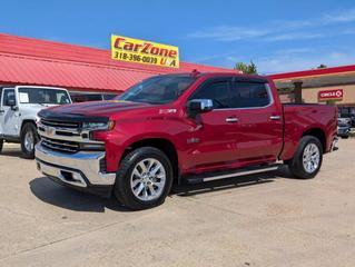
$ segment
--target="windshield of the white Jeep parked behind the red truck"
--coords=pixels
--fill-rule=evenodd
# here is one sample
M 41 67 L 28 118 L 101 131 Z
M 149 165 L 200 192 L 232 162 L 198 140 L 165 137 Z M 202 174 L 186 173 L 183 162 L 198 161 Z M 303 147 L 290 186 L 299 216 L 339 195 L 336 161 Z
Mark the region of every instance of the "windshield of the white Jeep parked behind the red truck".
M 20 88 L 19 99 L 21 103 L 70 103 L 68 92 L 59 89 Z

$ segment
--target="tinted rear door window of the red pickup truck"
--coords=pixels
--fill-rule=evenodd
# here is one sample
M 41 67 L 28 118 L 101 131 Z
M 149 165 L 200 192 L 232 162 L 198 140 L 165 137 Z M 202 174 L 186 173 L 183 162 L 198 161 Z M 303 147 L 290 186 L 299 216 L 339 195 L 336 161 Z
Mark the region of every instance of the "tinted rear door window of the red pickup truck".
M 233 108 L 257 108 L 269 105 L 270 96 L 265 83 L 237 81 L 230 101 Z

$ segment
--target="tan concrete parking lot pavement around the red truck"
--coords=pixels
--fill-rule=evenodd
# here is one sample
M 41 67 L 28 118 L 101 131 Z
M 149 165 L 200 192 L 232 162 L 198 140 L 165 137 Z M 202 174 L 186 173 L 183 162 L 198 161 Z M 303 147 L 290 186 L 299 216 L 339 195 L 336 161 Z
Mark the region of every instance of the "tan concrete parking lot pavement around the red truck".
M 355 266 L 355 139 L 313 180 L 268 175 L 175 188 L 155 209 L 43 178 L 0 156 L 0 266 Z

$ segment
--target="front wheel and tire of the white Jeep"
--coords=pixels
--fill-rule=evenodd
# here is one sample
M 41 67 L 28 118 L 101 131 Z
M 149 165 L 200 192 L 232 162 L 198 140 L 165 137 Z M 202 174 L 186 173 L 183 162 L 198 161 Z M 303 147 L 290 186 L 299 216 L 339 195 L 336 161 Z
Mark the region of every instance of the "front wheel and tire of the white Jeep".
M 32 136 L 32 138 L 29 137 Z M 21 129 L 21 150 L 22 157 L 27 159 L 34 158 L 34 146 L 39 141 L 37 128 L 32 122 L 26 122 Z

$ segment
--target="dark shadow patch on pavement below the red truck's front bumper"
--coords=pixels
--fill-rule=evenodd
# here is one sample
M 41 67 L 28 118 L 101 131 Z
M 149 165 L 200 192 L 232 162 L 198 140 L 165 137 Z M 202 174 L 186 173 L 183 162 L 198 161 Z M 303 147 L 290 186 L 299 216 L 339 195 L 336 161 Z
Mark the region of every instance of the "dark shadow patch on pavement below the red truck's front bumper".
M 40 177 L 29 182 L 31 192 L 43 202 L 75 211 L 105 212 L 105 209 L 129 211 L 116 199 L 101 198 L 95 195 L 77 191 L 57 185 L 47 177 Z

